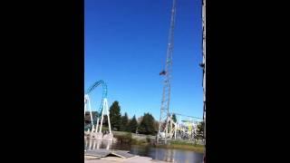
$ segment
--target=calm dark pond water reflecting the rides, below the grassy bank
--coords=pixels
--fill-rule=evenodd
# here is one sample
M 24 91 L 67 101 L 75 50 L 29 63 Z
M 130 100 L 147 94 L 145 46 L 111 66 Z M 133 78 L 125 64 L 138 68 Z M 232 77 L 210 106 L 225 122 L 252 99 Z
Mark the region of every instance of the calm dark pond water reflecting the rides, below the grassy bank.
M 118 141 L 104 141 L 104 140 L 85 140 L 85 149 L 119 149 L 129 150 L 131 154 L 150 157 L 153 159 L 178 162 L 178 163 L 201 163 L 203 154 L 191 150 L 183 149 L 160 149 L 150 146 L 137 146 Z

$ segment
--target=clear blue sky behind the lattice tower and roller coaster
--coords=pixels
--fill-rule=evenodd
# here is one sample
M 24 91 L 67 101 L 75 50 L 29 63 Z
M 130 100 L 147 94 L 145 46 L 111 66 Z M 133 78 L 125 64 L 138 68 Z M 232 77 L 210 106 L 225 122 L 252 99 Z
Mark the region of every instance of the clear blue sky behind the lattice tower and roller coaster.
M 84 89 L 108 84 L 108 101 L 119 101 L 131 118 L 160 118 L 172 0 L 85 0 Z M 177 0 L 169 110 L 202 117 L 201 1 Z M 102 88 L 92 92 L 99 110 Z

